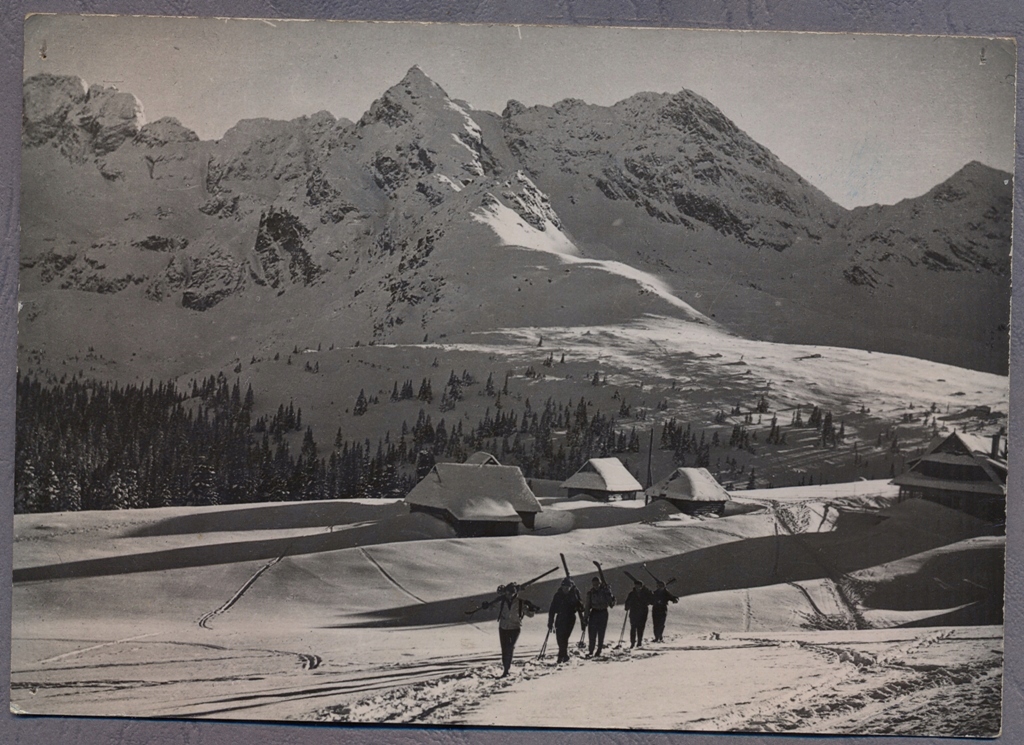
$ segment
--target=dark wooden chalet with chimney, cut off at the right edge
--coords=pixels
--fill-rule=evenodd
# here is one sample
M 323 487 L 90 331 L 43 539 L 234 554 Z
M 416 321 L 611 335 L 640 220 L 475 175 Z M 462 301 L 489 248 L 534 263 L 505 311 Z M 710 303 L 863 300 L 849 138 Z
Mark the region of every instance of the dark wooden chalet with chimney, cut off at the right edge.
M 1007 451 L 1001 433 L 991 439 L 953 432 L 892 483 L 901 499 L 920 497 L 995 523 L 1007 517 Z

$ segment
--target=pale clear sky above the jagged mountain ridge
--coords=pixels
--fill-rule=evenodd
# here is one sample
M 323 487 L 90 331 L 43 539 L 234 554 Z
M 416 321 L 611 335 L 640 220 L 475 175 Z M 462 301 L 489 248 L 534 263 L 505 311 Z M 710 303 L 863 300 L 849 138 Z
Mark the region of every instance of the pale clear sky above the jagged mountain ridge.
M 1013 170 L 1012 40 L 34 15 L 25 55 L 27 78 L 115 86 L 203 139 L 240 119 L 354 121 L 419 64 L 496 113 L 692 90 L 848 208 L 916 196 L 971 161 Z

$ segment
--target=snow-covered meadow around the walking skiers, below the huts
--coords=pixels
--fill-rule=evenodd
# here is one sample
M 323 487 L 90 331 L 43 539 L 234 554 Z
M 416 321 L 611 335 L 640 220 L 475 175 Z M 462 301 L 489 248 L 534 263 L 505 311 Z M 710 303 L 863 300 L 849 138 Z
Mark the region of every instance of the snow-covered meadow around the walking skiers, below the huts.
M 994 734 L 1001 536 L 900 503 L 885 481 L 735 497 L 720 519 L 546 500 L 571 530 L 473 539 L 380 501 L 16 516 L 12 706 Z M 600 561 L 620 602 L 626 571 L 674 577 L 666 641 L 650 643 L 648 628 L 642 649 L 620 646 L 616 607 L 603 659 L 573 649 L 556 666 L 553 653 L 537 659 L 545 618 L 526 618 L 512 674 L 498 678 L 497 624 L 465 611 L 499 583 L 558 567 L 560 553 L 583 585 Z M 558 574 L 524 597 L 546 608 Z

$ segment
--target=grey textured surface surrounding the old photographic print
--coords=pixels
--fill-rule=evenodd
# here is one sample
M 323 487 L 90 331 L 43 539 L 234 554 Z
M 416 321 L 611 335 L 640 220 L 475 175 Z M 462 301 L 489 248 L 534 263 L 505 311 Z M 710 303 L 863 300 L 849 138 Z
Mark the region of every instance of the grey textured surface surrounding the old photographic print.
M 23 18 L 28 12 L 144 13 L 243 17 L 323 17 L 456 23 L 512 23 L 593 26 L 658 26 L 708 29 L 830 31 L 860 33 L 958 34 L 1014 37 L 1024 41 L 1021 0 L 0 0 L 0 575 L 10 576 L 13 501 L 14 380 L 17 307 L 17 211 L 20 152 Z M 1018 48 L 1018 81 L 1021 79 Z M 553 71 L 553 74 L 557 74 Z M 1017 164 L 1022 158 L 1024 108 L 1018 93 Z M 1015 223 L 1024 218 L 1018 179 Z M 1022 242 L 1015 234 L 1018 248 Z M 1014 264 L 1015 300 L 1024 298 L 1024 266 Z M 1007 557 L 1007 655 L 1001 741 L 1024 742 L 1024 518 L 1016 505 L 1024 473 L 1020 427 L 1024 423 L 1024 320 L 1015 313 L 1011 330 L 1011 417 L 1009 553 Z M 0 682 L 10 678 L 10 586 L 0 583 Z M 622 745 L 772 745 L 776 742 L 931 743 L 954 742 L 922 738 L 811 738 L 626 732 L 552 732 L 470 729 L 355 728 L 286 725 L 241 725 L 196 721 L 152 721 L 58 717 L 16 717 L 6 713 L 7 686 L 0 712 L 0 743 L 49 745 L 97 743 L 134 745 L 255 745 L 281 743 L 322 745 L 344 741 L 353 745 L 387 742 L 427 745 L 489 745 L 526 743 L 615 743 Z M 595 686 L 595 696 L 600 689 Z M 524 725 L 528 720 L 524 719 Z

